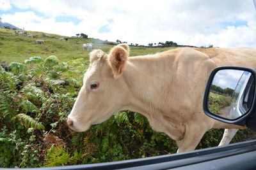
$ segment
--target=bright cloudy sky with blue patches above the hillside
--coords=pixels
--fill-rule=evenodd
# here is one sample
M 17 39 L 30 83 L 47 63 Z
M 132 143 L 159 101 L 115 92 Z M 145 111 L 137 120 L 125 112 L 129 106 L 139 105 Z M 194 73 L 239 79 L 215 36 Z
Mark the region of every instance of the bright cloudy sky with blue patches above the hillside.
M 29 31 L 128 44 L 256 48 L 253 0 L 0 0 L 0 17 Z

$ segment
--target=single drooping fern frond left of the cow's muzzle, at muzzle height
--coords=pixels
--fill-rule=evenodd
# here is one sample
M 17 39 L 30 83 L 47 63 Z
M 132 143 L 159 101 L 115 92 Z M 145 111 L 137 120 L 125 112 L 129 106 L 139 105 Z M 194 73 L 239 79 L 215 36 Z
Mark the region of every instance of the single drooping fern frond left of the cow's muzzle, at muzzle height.
M 28 129 L 29 127 L 34 129 L 45 129 L 42 122 L 37 122 L 34 118 L 29 117 L 29 115 L 26 115 L 24 113 L 20 113 L 17 115 L 17 118 L 19 118 L 20 122 Z

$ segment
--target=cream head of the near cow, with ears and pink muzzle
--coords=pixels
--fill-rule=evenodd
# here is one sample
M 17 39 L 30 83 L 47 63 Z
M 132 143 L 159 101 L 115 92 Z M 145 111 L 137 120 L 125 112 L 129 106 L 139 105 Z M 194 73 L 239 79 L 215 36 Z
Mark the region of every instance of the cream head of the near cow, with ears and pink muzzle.
M 90 67 L 84 74 L 83 86 L 68 115 L 67 124 L 74 131 L 86 131 L 100 124 L 124 107 L 127 86 L 122 73 L 127 64 L 129 46 L 117 45 L 109 54 L 102 50 L 90 53 Z

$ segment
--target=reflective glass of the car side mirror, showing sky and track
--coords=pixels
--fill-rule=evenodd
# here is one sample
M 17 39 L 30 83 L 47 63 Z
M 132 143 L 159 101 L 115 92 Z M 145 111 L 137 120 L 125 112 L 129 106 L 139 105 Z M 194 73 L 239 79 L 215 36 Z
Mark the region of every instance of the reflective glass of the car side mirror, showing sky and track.
M 245 114 L 252 105 L 255 78 L 248 71 L 222 69 L 211 84 L 208 110 L 219 117 L 236 119 Z

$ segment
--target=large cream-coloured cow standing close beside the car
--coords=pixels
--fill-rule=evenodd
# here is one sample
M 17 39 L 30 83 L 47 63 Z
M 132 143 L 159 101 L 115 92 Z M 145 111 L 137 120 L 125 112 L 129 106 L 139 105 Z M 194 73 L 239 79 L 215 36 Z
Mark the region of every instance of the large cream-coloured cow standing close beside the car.
M 227 129 L 226 145 L 244 129 L 205 115 L 202 103 L 207 79 L 218 66 L 256 66 L 256 50 L 237 48 L 175 48 L 153 55 L 129 57 L 128 45 L 107 54 L 90 53 L 90 67 L 68 115 L 70 129 L 82 132 L 120 110 L 147 117 L 152 129 L 174 139 L 177 153 L 195 150 L 205 132 Z

